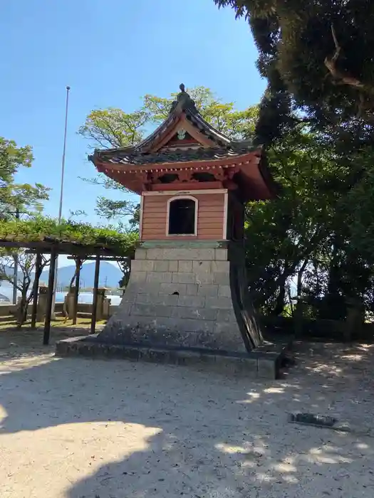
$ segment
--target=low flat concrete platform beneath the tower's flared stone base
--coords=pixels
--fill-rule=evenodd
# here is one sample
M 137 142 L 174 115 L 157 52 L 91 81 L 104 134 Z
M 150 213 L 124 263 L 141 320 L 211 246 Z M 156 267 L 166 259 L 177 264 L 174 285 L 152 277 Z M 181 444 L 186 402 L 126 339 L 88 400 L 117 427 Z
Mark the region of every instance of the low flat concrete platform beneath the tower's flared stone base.
M 160 349 L 155 347 L 107 344 L 98 335 L 72 337 L 56 343 L 56 356 L 127 359 L 152 363 L 195 366 L 198 369 L 249 378 L 276 379 L 291 341 L 266 343 L 250 353 L 222 354 L 206 349 Z

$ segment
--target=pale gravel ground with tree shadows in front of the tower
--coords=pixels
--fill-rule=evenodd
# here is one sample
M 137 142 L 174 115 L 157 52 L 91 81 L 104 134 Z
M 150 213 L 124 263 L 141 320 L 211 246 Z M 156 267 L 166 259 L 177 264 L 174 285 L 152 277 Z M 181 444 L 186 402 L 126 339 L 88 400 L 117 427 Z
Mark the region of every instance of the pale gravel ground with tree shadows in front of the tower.
M 1 498 L 374 496 L 372 346 L 296 344 L 282 380 L 255 382 L 38 344 L 0 334 Z

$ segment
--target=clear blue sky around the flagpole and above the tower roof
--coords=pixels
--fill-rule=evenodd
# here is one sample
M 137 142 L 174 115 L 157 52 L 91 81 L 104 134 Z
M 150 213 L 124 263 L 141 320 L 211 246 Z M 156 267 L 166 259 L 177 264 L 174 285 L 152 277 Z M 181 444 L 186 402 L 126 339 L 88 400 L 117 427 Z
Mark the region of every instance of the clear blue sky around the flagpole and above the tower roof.
M 71 86 L 63 216 L 95 216 L 98 195 L 88 143 L 76 132 L 90 110 L 131 112 L 146 93 L 167 96 L 204 85 L 238 108 L 259 102 L 265 82 L 255 68 L 249 26 L 213 0 L 2 0 L 0 136 L 33 147 L 19 176 L 50 186 L 46 213 L 58 215 L 66 85 Z

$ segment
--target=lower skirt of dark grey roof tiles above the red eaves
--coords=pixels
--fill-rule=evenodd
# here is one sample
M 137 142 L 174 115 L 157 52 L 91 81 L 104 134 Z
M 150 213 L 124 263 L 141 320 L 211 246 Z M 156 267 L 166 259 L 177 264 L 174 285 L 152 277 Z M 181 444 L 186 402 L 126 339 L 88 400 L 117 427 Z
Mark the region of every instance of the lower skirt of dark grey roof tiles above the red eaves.
M 163 164 L 187 161 L 212 161 L 236 157 L 256 150 L 250 142 L 232 142 L 228 147 L 199 147 L 199 149 L 174 149 L 165 152 L 141 153 L 128 150 L 111 150 L 96 152 L 100 161 L 114 164 Z M 91 160 L 93 158 L 90 158 Z

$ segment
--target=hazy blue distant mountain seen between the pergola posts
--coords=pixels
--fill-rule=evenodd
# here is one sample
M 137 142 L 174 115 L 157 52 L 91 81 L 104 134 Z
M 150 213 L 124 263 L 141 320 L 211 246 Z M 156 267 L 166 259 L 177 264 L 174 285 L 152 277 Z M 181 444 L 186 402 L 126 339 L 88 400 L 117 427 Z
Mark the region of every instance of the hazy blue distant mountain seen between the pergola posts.
M 70 284 L 71 278 L 76 271 L 75 265 L 68 265 L 58 268 L 57 285 L 66 287 Z M 95 277 L 95 263 L 83 263 L 80 270 L 80 287 L 93 287 Z M 99 285 L 102 287 L 118 287 L 118 282 L 123 277 L 123 273 L 118 266 L 102 261 L 100 263 Z M 44 270 L 40 277 L 40 282 L 48 284 L 48 268 Z

